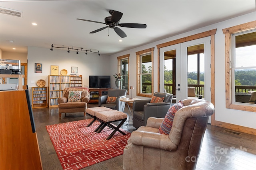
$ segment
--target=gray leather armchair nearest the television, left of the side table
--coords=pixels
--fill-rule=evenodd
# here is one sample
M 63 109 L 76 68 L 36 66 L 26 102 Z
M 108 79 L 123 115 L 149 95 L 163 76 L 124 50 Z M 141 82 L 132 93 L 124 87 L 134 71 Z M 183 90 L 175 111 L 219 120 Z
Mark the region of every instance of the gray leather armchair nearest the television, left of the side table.
M 121 90 L 121 89 L 109 89 L 108 95 L 102 95 L 99 97 L 99 107 L 104 106 L 108 107 L 110 109 L 115 109 L 118 111 L 124 111 L 125 103 L 121 104 L 120 98 L 126 98 L 127 90 Z M 109 97 L 117 97 L 116 103 L 106 103 L 107 98 Z

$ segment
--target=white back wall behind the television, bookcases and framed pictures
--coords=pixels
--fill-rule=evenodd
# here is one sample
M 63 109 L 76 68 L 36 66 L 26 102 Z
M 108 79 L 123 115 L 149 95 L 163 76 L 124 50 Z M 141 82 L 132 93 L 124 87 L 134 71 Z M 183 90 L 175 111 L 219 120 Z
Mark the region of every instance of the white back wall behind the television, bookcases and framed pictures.
M 35 63 L 42 64 L 42 73 L 35 73 Z M 98 53 L 76 54 L 76 51 L 28 47 L 28 86 L 36 86 L 36 82 L 40 79 L 46 81 L 48 86 L 48 75 L 51 74 L 50 66 L 58 65 L 59 74 L 62 69 L 71 74 L 71 66 L 78 67 L 78 73 L 82 75 L 83 87 L 89 87 L 89 75 L 111 75 L 109 68 L 109 56 L 100 55 Z M 114 79 L 113 79 L 114 80 Z M 31 83 L 34 81 L 35 83 Z M 112 84 L 114 86 L 114 84 Z

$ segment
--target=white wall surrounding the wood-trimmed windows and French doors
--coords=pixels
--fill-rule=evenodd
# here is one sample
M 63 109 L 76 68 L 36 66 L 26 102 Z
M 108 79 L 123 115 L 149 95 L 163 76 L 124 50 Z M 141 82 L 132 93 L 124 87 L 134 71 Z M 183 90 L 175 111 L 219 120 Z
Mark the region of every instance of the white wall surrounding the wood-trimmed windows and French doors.
M 157 88 L 157 64 L 158 64 L 157 57 L 158 56 L 157 56 L 156 45 L 217 28 L 217 32 L 215 35 L 215 82 L 216 82 L 215 84 L 215 98 L 216 98 L 215 119 L 216 121 L 222 121 L 226 123 L 231 123 L 235 125 L 256 129 L 256 113 L 249 112 L 249 111 L 226 109 L 226 105 L 225 105 L 226 104 L 225 102 L 225 98 L 226 98 L 225 96 L 225 90 L 226 90 L 225 89 L 225 44 L 224 44 L 225 36 L 222 32 L 222 29 L 224 28 L 232 27 L 235 25 L 239 25 L 239 24 L 254 21 L 254 20 L 256 20 L 255 12 L 246 14 L 244 16 L 240 16 L 237 18 L 232 18 L 230 20 L 222 21 L 220 23 L 216 23 L 207 27 L 196 29 L 194 31 L 176 35 L 174 37 L 156 41 L 154 43 L 143 45 L 135 49 L 124 51 L 122 53 L 117 53 L 111 56 L 110 72 L 117 71 L 116 57 L 130 54 L 130 59 L 129 59 L 130 86 L 134 86 L 134 89 L 136 89 L 136 54 L 135 53 L 137 51 L 142 51 L 144 49 L 155 47 L 154 49 L 154 92 L 157 92 L 157 89 L 158 89 Z M 133 93 L 134 97 L 135 97 L 135 94 L 136 93 Z M 138 98 L 141 98 L 141 97 L 138 97 Z

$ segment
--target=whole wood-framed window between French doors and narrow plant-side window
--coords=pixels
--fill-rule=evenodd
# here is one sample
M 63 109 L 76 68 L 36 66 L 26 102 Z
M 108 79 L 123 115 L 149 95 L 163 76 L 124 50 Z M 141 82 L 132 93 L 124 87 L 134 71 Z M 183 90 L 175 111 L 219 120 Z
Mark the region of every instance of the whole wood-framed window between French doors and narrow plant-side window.
M 154 47 L 136 52 L 137 96 L 151 98 L 153 94 L 153 51 Z

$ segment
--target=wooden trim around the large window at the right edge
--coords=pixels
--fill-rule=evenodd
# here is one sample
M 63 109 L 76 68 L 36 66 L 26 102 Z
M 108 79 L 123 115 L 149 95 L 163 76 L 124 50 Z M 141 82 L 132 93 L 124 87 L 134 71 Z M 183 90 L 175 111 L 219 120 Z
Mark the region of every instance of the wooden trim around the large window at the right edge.
M 256 107 L 253 106 L 246 106 L 246 105 L 239 105 L 232 103 L 232 85 L 231 85 L 231 36 L 234 33 L 244 32 L 248 30 L 252 30 L 256 28 L 256 21 L 251 21 L 248 23 L 243 23 L 240 25 L 236 25 L 233 27 L 228 27 L 222 29 L 225 35 L 225 84 L 226 84 L 226 108 L 228 109 L 236 109 L 236 110 L 243 110 L 243 111 L 252 111 L 256 112 Z

